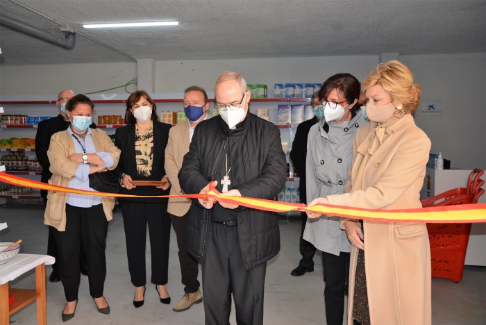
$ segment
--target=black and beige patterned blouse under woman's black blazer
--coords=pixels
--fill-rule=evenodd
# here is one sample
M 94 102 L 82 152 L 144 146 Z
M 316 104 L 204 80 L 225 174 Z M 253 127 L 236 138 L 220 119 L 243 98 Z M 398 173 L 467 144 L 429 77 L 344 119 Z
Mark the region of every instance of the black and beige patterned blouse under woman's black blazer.
M 147 128 L 145 134 L 140 134 L 135 126 L 135 159 L 137 161 L 137 176 L 152 175 L 153 163 L 153 126 Z

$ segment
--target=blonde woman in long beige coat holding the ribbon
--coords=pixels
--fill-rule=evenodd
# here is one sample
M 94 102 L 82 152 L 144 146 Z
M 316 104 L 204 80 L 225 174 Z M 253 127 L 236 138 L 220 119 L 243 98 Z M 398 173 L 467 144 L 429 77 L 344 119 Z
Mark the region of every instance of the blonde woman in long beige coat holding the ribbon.
M 362 88 L 371 123 L 354 140 L 346 193 L 309 205 L 421 208 L 430 140 L 411 115 L 421 88 L 408 67 L 396 60 L 378 65 Z M 426 224 L 342 219 L 341 226 L 352 244 L 348 324 L 430 324 Z

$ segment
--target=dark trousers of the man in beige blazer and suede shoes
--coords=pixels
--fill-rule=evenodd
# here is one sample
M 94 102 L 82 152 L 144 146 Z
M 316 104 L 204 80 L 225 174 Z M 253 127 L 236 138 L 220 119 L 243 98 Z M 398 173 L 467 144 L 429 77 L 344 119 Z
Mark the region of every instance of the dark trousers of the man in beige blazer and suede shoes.
M 187 217 L 187 214 L 182 217 L 170 215 L 170 219 L 174 231 L 176 231 L 179 264 L 181 265 L 181 282 L 185 285 L 184 292 L 194 293 L 199 290 L 201 284 L 197 280 L 199 265 L 196 259 L 187 253 L 187 221 L 189 217 Z

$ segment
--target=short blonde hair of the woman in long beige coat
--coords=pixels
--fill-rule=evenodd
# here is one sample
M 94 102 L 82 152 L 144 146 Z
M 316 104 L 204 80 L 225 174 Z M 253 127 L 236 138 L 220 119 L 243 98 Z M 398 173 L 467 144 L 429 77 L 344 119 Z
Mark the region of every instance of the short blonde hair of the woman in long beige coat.
M 361 85 L 367 90 L 377 84 L 392 95 L 394 103 L 401 105 L 404 113 L 412 113 L 419 106 L 421 87 L 413 82 L 412 72 L 403 63 L 397 60 L 380 63 Z

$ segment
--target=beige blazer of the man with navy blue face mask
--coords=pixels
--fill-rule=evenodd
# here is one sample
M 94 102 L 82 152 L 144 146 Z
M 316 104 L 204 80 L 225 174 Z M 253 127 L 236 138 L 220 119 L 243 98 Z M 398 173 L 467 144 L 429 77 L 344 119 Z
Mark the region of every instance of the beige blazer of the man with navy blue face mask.
M 169 141 L 165 147 L 165 174 L 171 183 L 170 194 L 181 194 L 178 173 L 181 170 L 185 154 L 189 151 L 191 141 L 189 138 L 189 123 L 183 122 L 173 126 L 169 131 Z M 177 217 L 185 215 L 191 207 L 190 199 L 171 197 L 167 212 Z

